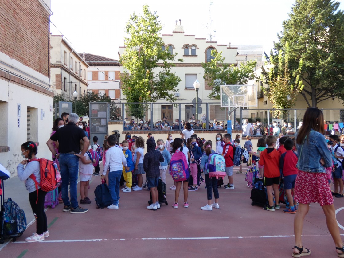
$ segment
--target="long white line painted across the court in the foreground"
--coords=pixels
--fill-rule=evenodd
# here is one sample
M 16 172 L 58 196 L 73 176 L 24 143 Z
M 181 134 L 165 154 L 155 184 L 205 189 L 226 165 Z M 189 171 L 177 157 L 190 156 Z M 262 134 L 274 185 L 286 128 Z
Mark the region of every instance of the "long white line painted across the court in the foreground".
M 344 235 L 344 234 L 343 234 Z M 303 235 L 303 237 L 320 237 L 326 235 Z M 294 237 L 294 235 L 273 235 L 273 236 L 233 236 L 233 237 L 146 237 L 146 238 L 114 238 L 114 239 L 71 239 L 71 240 L 44 240 L 39 243 L 65 243 L 65 242 L 92 242 L 92 241 L 128 241 L 128 240 L 209 240 L 209 239 L 247 239 L 247 238 L 281 238 Z M 25 241 L 15 241 L 13 244 L 23 244 Z

